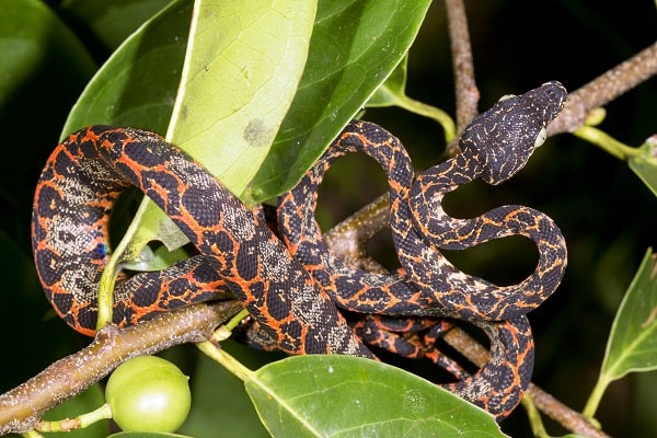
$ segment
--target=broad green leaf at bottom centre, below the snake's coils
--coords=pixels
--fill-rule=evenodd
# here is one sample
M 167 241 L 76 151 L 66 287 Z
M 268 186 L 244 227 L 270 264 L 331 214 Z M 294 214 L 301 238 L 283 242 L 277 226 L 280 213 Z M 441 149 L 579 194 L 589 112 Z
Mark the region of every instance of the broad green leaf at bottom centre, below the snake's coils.
M 504 437 L 493 416 L 415 374 L 348 356 L 295 356 L 245 381 L 274 437 Z

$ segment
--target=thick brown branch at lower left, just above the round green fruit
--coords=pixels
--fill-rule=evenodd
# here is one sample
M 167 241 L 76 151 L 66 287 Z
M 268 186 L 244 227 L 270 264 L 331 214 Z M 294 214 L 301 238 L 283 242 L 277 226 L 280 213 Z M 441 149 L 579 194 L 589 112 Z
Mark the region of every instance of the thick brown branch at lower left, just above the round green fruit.
M 0 395 L 0 435 L 33 429 L 44 412 L 84 391 L 131 357 L 207 339 L 241 308 L 237 300 L 200 303 L 123 330 L 108 326 L 100 331 L 88 347 Z

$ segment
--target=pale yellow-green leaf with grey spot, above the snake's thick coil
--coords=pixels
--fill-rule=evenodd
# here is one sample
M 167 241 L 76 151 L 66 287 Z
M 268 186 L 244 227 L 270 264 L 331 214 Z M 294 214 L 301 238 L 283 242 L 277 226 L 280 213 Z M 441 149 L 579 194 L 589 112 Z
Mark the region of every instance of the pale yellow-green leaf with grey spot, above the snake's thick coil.
M 316 4 L 197 0 L 166 135 L 231 192 L 267 154 L 303 72 Z

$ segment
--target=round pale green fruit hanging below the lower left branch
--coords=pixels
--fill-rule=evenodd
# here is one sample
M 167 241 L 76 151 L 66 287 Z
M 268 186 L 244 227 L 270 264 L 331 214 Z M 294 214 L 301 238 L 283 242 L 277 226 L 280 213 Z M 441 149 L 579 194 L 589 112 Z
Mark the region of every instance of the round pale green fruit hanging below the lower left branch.
M 192 394 L 187 377 L 173 364 L 141 356 L 114 370 L 105 400 L 116 424 L 128 431 L 175 431 L 187 418 Z

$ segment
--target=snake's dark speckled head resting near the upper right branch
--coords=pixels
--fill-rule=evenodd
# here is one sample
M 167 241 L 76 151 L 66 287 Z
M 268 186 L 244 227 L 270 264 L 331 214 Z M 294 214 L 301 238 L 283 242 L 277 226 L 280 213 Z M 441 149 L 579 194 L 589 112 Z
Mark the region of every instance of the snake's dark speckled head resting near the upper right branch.
M 499 184 L 525 166 L 562 111 L 566 89 L 551 81 L 522 95 L 503 96 L 463 131 L 461 152 L 476 161 L 479 177 Z

